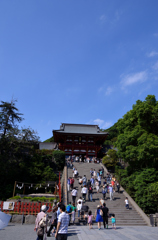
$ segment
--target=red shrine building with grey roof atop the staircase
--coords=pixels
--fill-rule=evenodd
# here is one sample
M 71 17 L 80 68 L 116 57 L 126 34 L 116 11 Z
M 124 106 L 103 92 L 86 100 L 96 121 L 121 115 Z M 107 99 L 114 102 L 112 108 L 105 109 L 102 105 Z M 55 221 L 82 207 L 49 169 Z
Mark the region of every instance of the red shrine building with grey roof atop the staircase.
M 59 130 L 53 130 L 53 136 L 66 155 L 97 157 L 108 133 L 102 132 L 98 125 L 62 123 Z

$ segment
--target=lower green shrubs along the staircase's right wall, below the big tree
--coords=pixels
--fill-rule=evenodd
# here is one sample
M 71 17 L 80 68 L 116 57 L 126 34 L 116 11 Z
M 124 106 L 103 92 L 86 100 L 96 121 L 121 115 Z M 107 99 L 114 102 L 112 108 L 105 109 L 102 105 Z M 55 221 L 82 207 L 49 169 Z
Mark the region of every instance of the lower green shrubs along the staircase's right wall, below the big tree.
M 143 168 L 129 175 L 127 169 L 117 167 L 116 176 L 145 213 L 157 211 L 158 172 L 155 168 Z

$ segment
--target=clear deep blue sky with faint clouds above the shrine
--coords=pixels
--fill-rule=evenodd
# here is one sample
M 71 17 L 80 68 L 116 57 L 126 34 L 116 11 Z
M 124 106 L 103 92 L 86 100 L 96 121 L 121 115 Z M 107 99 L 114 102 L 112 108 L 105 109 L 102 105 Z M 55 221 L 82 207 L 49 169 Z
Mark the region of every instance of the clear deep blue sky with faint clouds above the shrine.
M 41 141 L 63 123 L 112 126 L 158 100 L 157 0 L 1 0 L 0 100 Z

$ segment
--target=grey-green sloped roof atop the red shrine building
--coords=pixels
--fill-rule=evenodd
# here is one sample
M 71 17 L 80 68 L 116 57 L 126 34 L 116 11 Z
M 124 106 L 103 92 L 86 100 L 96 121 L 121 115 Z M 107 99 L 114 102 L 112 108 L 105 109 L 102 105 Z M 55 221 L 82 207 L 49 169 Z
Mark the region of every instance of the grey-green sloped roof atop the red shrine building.
M 70 124 L 62 123 L 59 130 L 54 130 L 56 133 L 78 133 L 78 134 L 97 134 L 107 135 L 107 132 L 102 132 L 98 125 L 88 124 Z

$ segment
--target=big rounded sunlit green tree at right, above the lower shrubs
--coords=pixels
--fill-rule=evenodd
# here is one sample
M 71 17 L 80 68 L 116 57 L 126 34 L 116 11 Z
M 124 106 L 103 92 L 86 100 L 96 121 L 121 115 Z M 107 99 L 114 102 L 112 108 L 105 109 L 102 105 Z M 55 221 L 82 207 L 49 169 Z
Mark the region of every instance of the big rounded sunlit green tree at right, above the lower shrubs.
M 116 146 L 118 156 L 133 170 L 158 167 L 158 102 L 148 95 L 119 119 Z

